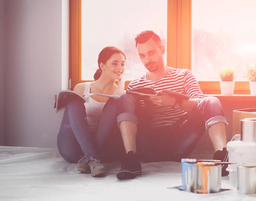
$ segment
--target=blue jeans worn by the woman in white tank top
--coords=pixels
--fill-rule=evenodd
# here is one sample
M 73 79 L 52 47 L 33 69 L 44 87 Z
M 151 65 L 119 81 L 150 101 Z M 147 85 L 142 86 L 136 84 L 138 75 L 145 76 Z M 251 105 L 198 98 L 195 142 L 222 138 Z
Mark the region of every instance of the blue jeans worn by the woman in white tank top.
M 84 103 L 71 100 L 64 111 L 57 146 L 61 156 L 70 163 L 92 156 L 102 162 L 117 161 L 125 154 L 122 137 L 116 124 L 119 97 L 110 98 L 103 108 L 96 133 L 90 133 Z M 120 159 L 121 160 L 121 159 Z

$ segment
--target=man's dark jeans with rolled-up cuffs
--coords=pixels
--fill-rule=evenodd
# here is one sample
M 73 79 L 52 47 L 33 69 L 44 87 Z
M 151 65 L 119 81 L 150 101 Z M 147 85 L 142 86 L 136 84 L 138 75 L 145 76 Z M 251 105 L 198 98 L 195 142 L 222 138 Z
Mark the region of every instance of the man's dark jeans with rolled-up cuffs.
M 187 158 L 195 149 L 210 126 L 220 122 L 228 124 L 218 98 L 206 97 L 185 123 L 152 128 L 148 120 L 152 105 L 145 103 L 142 109 L 138 98 L 138 95 L 128 93 L 120 97 L 117 123 L 118 126 L 122 121 L 136 123 L 137 152 L 145 162 L 180 162 L 181 158 Z

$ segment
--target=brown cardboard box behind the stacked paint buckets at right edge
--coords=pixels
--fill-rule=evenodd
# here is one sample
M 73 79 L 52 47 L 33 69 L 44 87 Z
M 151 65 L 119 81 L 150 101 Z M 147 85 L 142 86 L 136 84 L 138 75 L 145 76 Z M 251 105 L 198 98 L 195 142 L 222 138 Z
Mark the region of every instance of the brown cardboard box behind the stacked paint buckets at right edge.
M 233 136 L 241 134 L 241 119 L 256 118 L 256 108 L 233 110 Z

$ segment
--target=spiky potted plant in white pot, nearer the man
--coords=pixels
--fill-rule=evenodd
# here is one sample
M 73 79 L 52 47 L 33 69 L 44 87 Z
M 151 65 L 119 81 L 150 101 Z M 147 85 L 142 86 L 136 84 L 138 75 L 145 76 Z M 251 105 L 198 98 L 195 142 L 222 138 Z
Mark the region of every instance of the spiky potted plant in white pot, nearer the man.
M 232 68 L 227 68 L 219 72 L 221 78 L 221 95 L 233 95 L 235 88 L 235 70 Z

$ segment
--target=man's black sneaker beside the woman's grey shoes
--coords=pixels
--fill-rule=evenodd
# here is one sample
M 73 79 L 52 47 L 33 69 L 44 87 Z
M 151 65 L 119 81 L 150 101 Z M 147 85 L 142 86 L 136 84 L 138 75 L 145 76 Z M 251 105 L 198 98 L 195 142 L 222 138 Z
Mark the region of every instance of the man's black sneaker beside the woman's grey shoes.
M 137 153 L 130 151 L 125 156 L 125 161 L 122 162 L 121 170 L 117 173 L 116 177 L 120 180 L 133 179 L 141 175 L 142 168 L 138 160 Z

